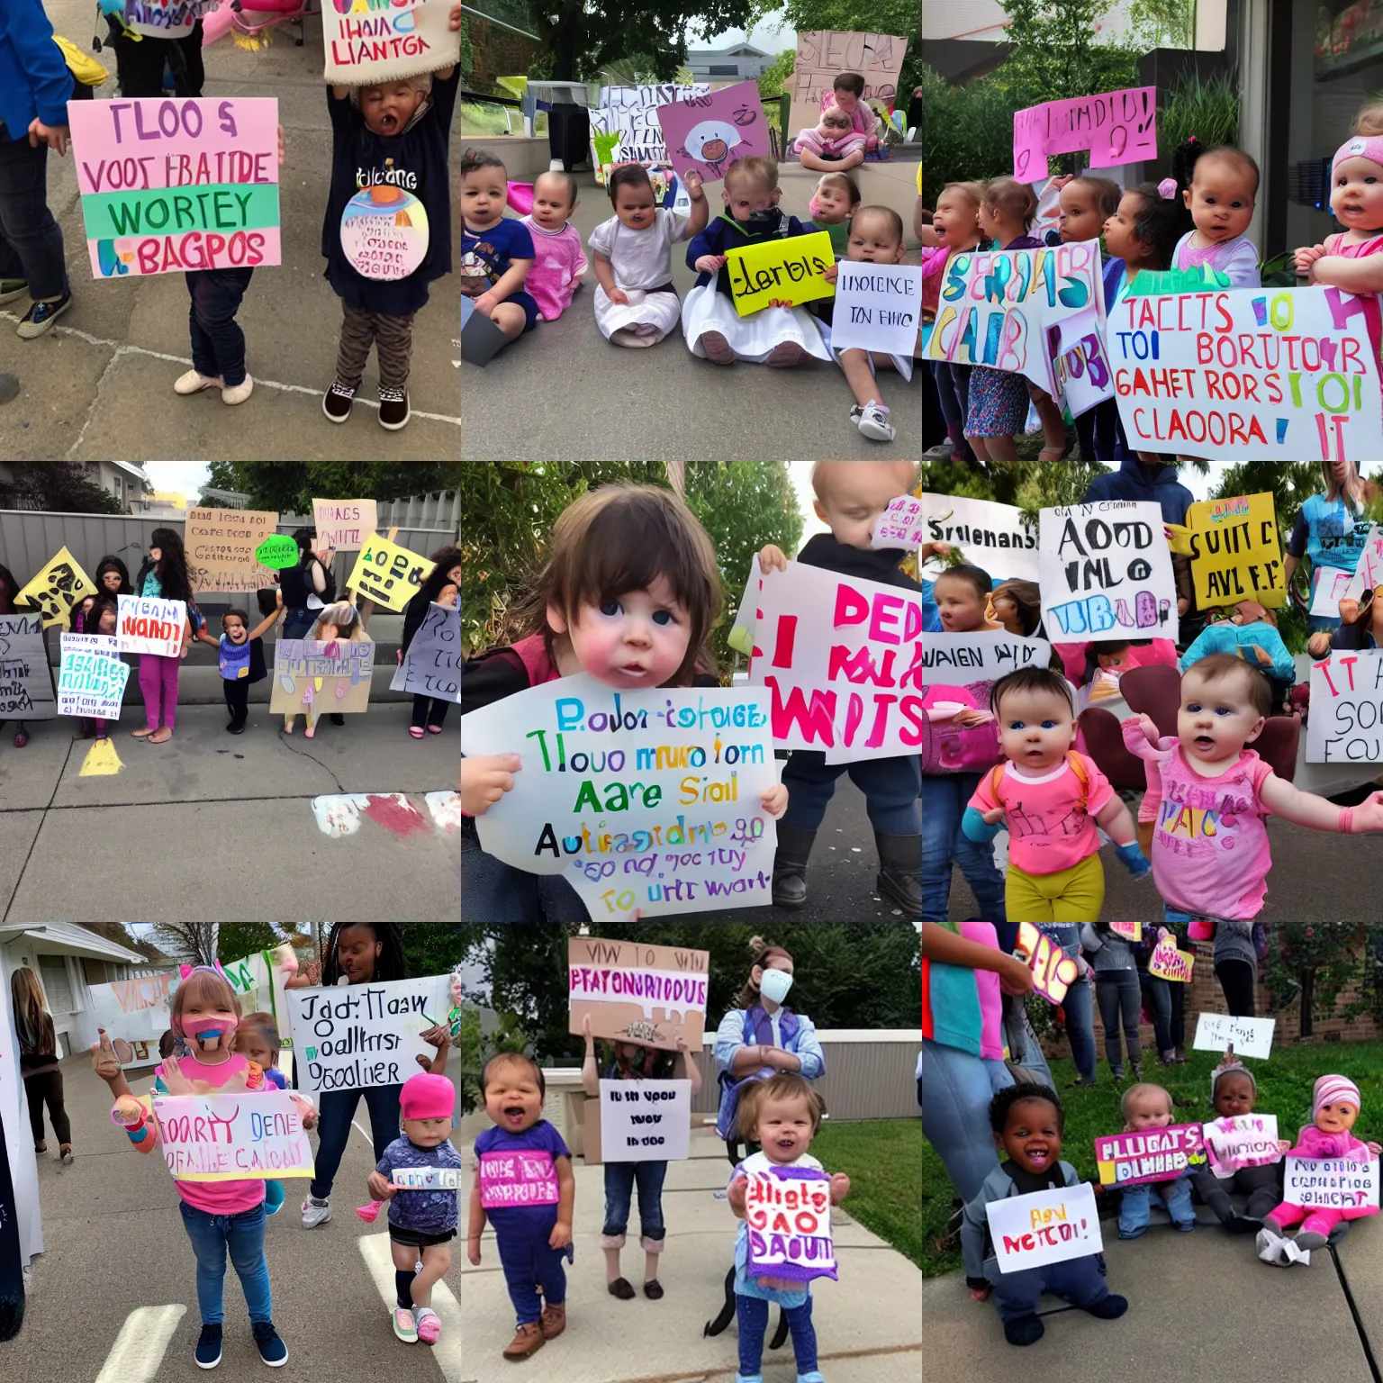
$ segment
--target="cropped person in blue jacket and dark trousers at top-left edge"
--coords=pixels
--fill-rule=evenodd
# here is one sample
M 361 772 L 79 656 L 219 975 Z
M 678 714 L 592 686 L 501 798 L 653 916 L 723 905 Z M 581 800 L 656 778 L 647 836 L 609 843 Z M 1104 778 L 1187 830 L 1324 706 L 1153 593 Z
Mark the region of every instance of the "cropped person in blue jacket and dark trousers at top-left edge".
M 48 149 L 68 152 L 72 73 L 41 0 L 0 4 L 0 304 L 28 296 L 19 336 L 72 304 L 62 231 L 48 210 Z

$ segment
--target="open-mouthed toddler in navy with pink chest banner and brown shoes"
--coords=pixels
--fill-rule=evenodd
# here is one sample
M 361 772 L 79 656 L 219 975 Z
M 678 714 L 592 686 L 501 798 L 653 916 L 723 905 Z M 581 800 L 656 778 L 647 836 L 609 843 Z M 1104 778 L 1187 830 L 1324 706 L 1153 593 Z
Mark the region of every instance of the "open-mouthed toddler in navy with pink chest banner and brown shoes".
M 561 1260 L 571 1260 L 577 1180 L 561 1134 L 542 1117 L 548 1086 L 538 1065 L 517 1052 L 503 1052 L 485 1065 L 480 1083 L 492 1126 L 476 1140 L 480 1167 L 470 1192 L 466 1256 L 480 1265 L 480 1239 L 488 1216 L 509 1300 L 519 1318 L 505 1358 L 526 1359 L 567 1328 L 567 1275 Z M 487 1205 L 490 1198 L 481 1182 L 492 1181 L 496 1192 L 503 1191 L 505 1182 L 519 1180 L 505 1171 L 505 1163 L 516 1158 L 524 1160 L 521 1180 L 528 1191 L 524 1203 L 506 1203 L 495 1195 Z M 542 1185 L 535 1191 L 537 1182 Z

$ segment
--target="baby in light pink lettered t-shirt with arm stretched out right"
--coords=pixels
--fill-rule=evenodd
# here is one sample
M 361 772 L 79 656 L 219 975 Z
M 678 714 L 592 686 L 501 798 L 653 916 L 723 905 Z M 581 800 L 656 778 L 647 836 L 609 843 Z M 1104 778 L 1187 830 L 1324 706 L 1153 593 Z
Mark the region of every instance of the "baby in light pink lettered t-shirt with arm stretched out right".
M 1355 808 L 1335 806 L 1279 779 L 1245 748 L 1261 734 L 1271 705 L 1272 689 L 1257 668 L 1216 653 L 1181 678 L 1176 739 L 1159 737 L 1149 715 L 1123 722 L 1124 744 L 1148 770 L 1138 817 L 1153 822 L 1152 877 L 1169 921 L 1257 916 L 1272 864 L 1270 812 L 1318 831 L 1383 830 L 1383 792 Z

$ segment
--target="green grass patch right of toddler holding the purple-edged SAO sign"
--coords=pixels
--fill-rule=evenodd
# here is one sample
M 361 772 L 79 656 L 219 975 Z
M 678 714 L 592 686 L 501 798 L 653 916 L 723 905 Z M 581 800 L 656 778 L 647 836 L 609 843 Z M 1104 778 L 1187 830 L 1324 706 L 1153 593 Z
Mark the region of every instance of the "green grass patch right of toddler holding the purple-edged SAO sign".
M 917 1164 L 928 1151 L 920 1119 L 826 1123 L 812 1140 L 812 1156 L 851 1178 L 844 1209 L 918 1267 L 924 1235 Z

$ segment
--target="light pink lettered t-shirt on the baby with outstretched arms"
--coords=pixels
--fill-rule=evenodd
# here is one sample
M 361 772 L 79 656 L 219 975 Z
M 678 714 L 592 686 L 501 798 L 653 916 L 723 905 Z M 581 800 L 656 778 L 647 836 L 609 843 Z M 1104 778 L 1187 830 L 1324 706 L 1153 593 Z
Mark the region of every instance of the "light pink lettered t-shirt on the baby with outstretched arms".
M 1254 750 L 1241 750 L 1232 769 L 1205 777 L 1173 736 L 1153 748 L 1137 722 L 1127 721 L 1123 737 L 1129 752 L 1155 763 L 1162 780 L 1152 878 L 1163 902 L 1192 917 L 1252 921 L 1272 866 L 1268 809 L 1260 795 L 1272 768 Z

